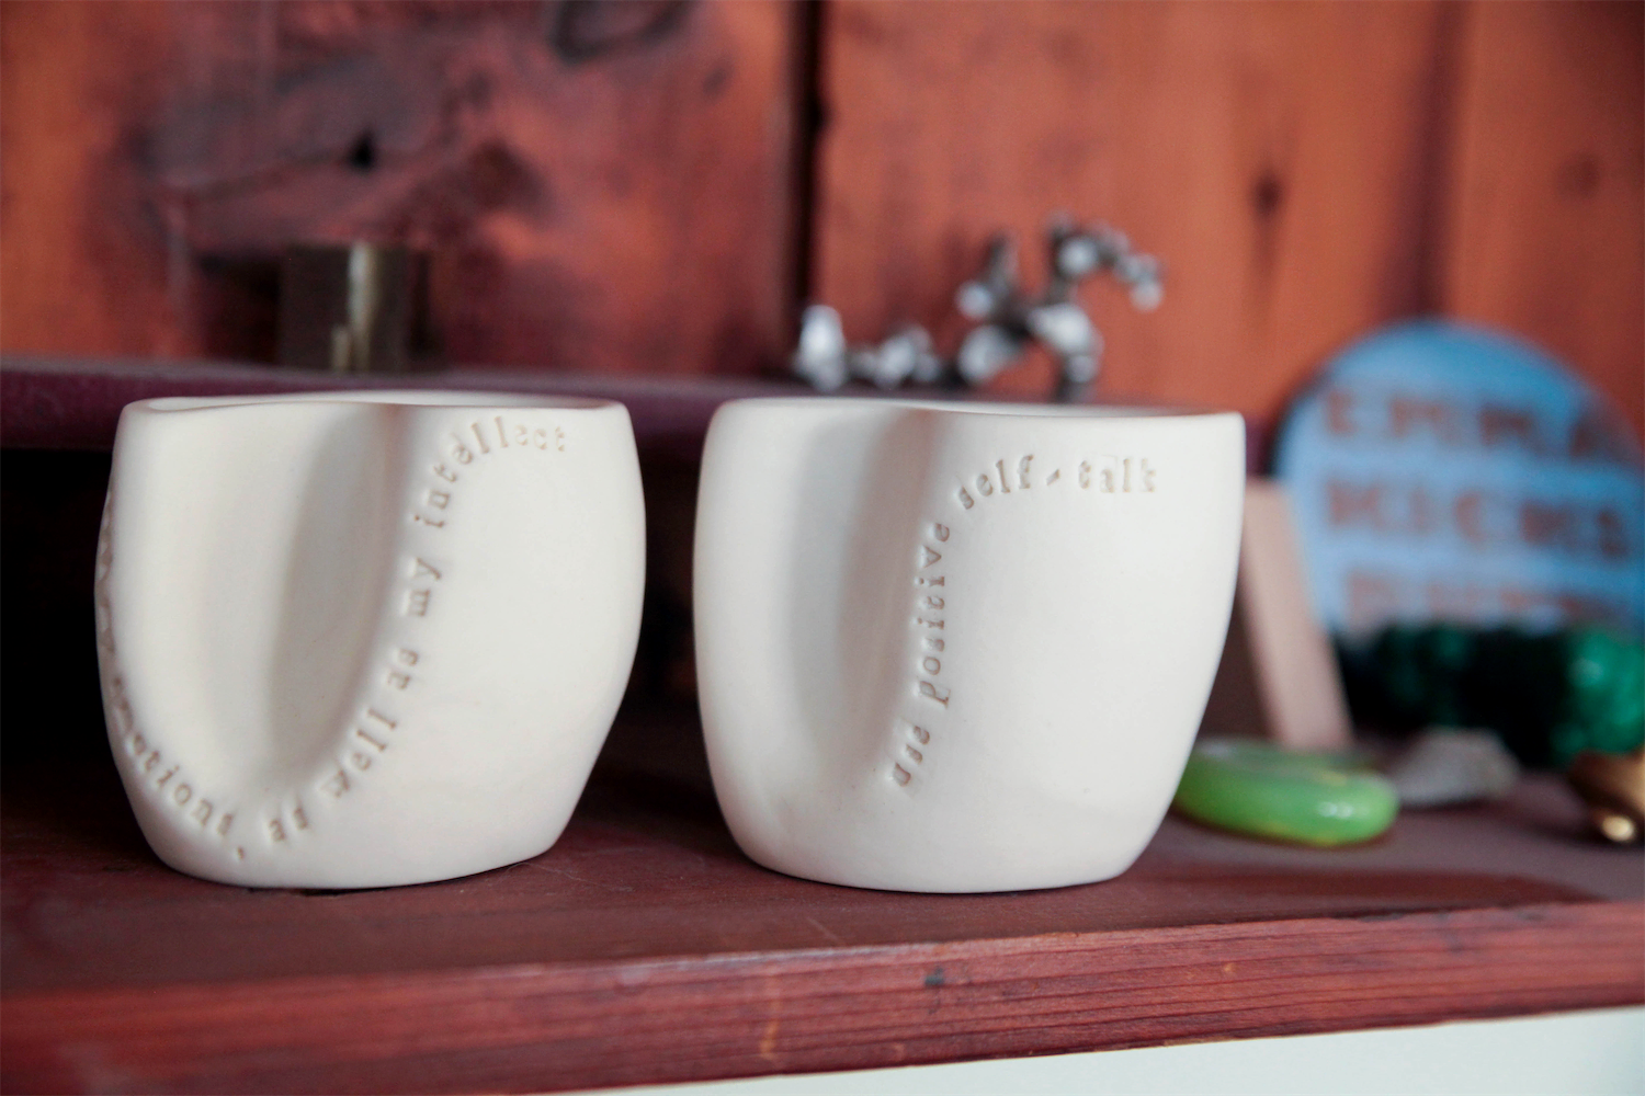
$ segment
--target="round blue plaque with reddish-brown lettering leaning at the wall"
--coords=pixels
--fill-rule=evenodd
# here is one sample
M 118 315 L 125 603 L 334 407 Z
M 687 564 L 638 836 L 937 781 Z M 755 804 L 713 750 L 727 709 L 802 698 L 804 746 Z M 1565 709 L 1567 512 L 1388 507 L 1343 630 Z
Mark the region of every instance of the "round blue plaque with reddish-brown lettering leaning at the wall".
M 1533 347 L 1380 332 L 1291 406 L 1275 475 L 1328 628 L 1645 624 L 1645 463 L 1615 409 Z

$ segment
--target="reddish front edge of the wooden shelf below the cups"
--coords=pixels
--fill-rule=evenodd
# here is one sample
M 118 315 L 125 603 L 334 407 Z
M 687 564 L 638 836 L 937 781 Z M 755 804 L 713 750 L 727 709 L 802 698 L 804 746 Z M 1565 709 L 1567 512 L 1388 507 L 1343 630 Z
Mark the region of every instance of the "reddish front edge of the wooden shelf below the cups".
M 7 1091 L 556 1091 L 1645 1002 L 1645 902 L 44 991 Z

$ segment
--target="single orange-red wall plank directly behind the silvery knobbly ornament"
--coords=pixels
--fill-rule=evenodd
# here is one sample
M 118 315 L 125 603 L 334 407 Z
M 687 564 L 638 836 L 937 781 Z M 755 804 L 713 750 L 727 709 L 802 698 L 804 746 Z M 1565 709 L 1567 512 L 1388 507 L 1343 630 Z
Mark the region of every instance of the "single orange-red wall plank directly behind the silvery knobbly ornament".
M 1086 291 L 1104 388 L 1270 417 L 1321 355 L 1433 304 L 1453 33 L 1431 0 L 829 3 L 813 292 L 857 337 L 952 340 L 992 232 L 1038 286 L 1050 214 L 1107 220 L 1166 289 L 1155 314 Z

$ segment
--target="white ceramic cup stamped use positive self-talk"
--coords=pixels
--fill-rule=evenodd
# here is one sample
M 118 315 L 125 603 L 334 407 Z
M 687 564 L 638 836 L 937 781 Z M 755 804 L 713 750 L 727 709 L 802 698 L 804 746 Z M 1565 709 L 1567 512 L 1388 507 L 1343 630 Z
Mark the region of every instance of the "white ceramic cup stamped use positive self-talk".
M 694 613 L 737 843 L 895 891 L 1125 871 L 1211 690 L 1244 470 L 1229 412 L 721 408 Z

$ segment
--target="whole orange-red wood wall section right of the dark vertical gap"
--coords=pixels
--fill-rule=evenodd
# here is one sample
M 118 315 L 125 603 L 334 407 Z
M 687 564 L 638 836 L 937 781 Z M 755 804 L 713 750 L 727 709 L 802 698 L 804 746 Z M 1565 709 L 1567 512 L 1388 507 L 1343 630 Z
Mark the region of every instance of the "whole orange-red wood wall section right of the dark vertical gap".
M 1086 289 L 1107 393 L 1272 421 L 1342 343 L 1449 312 L 1541 340 L 1645 431 L 1645 15 L 1627 0 L 831 0 L 813 281 L 918 320 L 1054 210 L 1166 265 Z M 1046 391 L 1038 361 L 1002 383 Z

